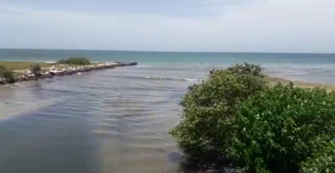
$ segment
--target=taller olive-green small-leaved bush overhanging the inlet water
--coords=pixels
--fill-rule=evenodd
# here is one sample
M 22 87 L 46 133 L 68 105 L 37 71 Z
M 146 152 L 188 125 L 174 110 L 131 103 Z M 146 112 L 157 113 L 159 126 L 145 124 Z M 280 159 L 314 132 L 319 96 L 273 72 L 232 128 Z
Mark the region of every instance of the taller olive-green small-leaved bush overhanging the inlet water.
M 169 131 L 188 156 L 227 153 L 233 115 L 242 100 L 265 88 L 263 71 L 260 65 L 237 64 L 213 70 L 208 80 L 189 87 L 180 103 L 181 122 Z

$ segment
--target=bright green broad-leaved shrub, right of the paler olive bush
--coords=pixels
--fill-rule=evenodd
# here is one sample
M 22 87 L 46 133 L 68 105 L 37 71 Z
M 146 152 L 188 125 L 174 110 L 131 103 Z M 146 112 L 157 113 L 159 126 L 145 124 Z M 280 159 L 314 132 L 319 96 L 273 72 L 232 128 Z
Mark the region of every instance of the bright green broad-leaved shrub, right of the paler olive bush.
M 231 157 L 250 172 L 297 171 L 320 148 L 320 136 L 327 136 L 323 142 L 335 137 L 334 95 L 278 83 L 250 96 L 236 113 Z

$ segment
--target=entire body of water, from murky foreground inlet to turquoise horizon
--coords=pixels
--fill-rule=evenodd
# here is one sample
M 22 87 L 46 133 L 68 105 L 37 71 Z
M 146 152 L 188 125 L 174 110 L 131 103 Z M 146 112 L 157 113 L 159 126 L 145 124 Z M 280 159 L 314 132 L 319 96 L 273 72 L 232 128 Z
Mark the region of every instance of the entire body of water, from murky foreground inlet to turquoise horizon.
M 0 61 L 68 57 L 139 64 L 0 86 L 1 173 L 201 172 L 167 132 L 188 86 L 211 69 L 248 62 L 335 84 L 335 54 L 0 49 Z

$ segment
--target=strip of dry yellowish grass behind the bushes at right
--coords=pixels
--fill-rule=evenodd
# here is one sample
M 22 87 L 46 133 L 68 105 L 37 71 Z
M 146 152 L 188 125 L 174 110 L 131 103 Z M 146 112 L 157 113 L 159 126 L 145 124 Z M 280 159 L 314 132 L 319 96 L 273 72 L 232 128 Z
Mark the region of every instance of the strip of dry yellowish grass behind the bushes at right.
M 300 82 L 300 81 L 290 81 L 286 79 L 281 79 L 277 77 L 268 76 L 267 80 L 269 81 L 269 85 L 273 86 L 278 82 L 283 84 L 288 84 L 289 82 L 293 82 L 294 86 L 301 87 L 301 88 L 324 88 L 328 92 L 335 91 L 335 85 L 327 85 L 322 83 L 310 83 L 310 82 Z

